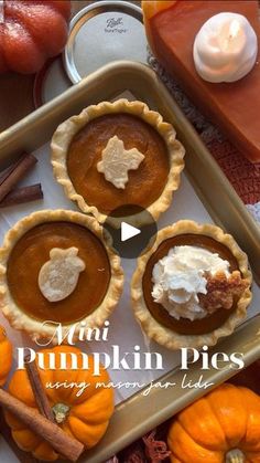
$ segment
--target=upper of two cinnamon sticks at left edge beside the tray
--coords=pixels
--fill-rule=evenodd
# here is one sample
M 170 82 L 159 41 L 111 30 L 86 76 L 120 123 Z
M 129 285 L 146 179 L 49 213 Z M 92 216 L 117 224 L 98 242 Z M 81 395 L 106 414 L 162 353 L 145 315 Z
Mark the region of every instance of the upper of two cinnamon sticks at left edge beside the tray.
M 0 183 L 0 201 L 10 193 L 15 185 L 22 180 L 28 171 L 37 162 L 33 155 L 24 154 L 11 168 L 9 175 Z

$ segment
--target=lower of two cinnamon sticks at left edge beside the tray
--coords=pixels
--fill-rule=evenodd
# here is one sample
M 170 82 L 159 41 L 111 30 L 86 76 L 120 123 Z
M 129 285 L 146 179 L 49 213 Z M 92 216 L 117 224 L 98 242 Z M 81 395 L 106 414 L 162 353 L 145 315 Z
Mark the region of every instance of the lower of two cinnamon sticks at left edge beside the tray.
M 0 179 L 1 181 L 1 179 Z M 30 187 L 17 188 L 8 193 L 2 201 L 0 208 L 8 208 L 10 206 L 22 204 L 24 202 L 32 202 L 43 199 L 43 191 L 41 183 L 31 185 Z

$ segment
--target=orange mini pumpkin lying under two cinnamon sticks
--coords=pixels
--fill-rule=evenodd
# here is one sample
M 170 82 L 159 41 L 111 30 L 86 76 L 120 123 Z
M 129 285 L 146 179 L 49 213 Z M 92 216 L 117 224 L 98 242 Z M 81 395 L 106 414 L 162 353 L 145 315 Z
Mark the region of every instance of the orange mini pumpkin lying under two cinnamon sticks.
M 68 434 L 80 441 L 86 449 L 95 446 L 105 434 L 113 412 L 113 391 L 102 385 L 109 382 L 106 369 L 100 366 L 100 375 L 94 376 L 94 358 L 88 356 L 88 369 L 83 369 L 83 357 L 79 349 L 72 346 L 56 346 L 41 350 L 46 365 L 48 355 L 55 355 L 55 370 L 39 368 L 57 424 Z M 66 356 L 66 369 L 61 367 L 61 354 Z M 71 354 L 77 358 L 77 369 Z M 36 359 L 39 365 L 39 357 Z M 100 382 L 100 387 L 97 387 Z M 51 388 L 50 385 L 56 388 Z M 67 385 L 67 387 L 57 385 Z M 71 385 L 71 387 L 69 387 Z M 74 387 L 73 387 L 74 385 Z M 77 386 L 76 386 L 77 385 Z M 79 385 L 88 387 L 79 392 Z M 9 392 L 36 409 L 34 394 L 25 370 L 17 370 L 10 381 Z M 29 430 L 15 417 L 6 412 L 6 420 L 12 430 L 12 436 L 20 449 L 31 452 L 36 459 L 55 461 L 58 454 L 39 435 Z

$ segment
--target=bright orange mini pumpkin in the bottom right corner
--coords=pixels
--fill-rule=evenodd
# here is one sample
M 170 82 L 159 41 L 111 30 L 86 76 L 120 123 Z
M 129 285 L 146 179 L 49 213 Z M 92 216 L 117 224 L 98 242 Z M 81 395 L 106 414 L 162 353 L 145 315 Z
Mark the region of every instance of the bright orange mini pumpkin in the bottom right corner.
M 260 463 L 260 397 L 223 385 L 174 419 L 172 463 Z

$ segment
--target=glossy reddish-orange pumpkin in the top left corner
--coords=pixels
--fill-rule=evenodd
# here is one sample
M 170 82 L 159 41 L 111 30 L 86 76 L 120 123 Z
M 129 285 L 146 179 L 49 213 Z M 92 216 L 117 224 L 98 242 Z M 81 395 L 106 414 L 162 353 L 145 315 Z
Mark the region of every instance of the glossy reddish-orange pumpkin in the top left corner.
M 34 73 L 66 44 L 69 0 L 8 0 L 0 14 L 0 73 Z

